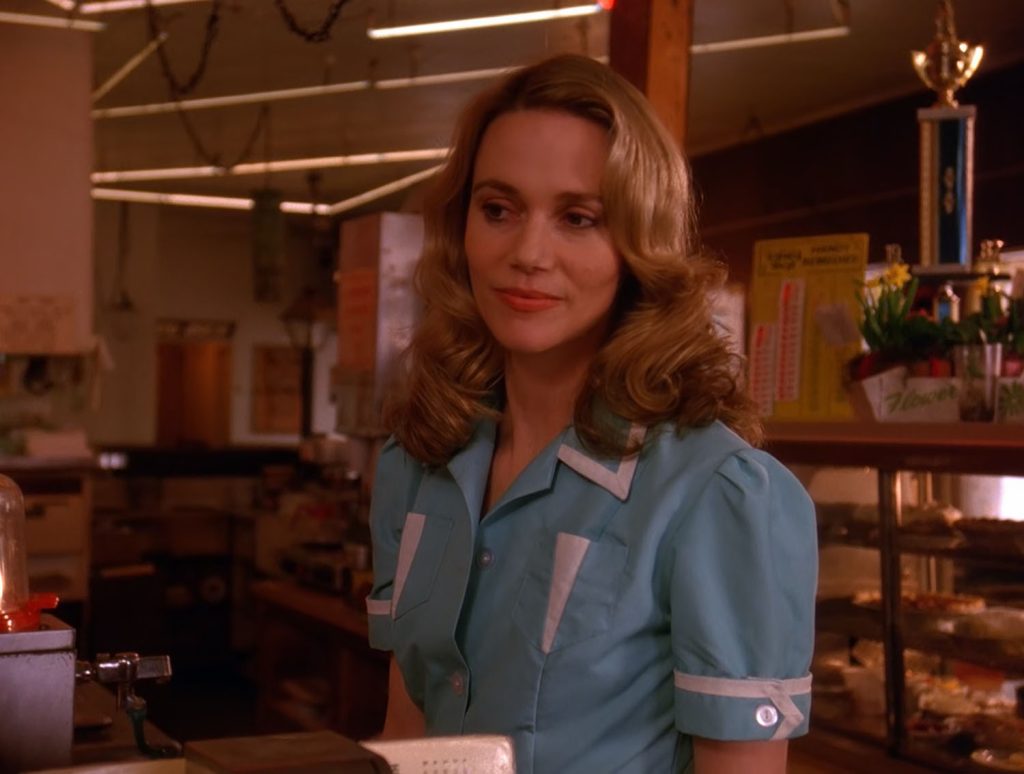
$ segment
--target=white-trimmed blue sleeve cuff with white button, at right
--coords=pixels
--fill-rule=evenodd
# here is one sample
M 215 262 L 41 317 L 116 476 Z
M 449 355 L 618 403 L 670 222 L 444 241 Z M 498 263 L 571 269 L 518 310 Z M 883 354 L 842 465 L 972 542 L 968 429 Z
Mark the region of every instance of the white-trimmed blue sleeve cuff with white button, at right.
M 792 680 L 675 674 L 676 727 L 723 741 L 791 739 L 807 733 L 811 676 Z

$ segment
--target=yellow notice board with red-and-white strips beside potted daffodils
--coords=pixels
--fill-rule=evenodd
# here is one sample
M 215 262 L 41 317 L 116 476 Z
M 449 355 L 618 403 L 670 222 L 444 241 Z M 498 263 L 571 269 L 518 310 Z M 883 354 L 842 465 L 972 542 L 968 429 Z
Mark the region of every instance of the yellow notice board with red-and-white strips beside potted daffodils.
M 847 233 L 786 240 L 765 240 L 754 246 L 751 284 L 751 331 L 773 327 L 773 354 L 760 361 L 752 338 L 751 383 L 765 416 L 790 420 L 830 420 L 852 417 L 843 365 L 857 344 L 829 344 L 817 321 L 817 311 L 848 307 L 856 318 L 855 291 L 867 266 L 867 234 Z M 767 333 L 762 346 L 769 345 Z M 772 363 L 767 380 L 763 369 Z M 770 388 L 765 387 L 770 381 Z M 770 389 L 770 392 L 767 390 Z M 765 405 L 766 396 L 770 405 Z

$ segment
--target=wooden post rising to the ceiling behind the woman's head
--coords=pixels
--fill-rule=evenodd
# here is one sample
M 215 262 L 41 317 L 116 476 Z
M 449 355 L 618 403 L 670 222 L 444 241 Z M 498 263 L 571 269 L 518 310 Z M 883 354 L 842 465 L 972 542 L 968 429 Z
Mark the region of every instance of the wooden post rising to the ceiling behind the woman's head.
M 695 1 L 616 0 L 609 30 L 611 68 L 647 95 L 680 148 L 686 141 Z

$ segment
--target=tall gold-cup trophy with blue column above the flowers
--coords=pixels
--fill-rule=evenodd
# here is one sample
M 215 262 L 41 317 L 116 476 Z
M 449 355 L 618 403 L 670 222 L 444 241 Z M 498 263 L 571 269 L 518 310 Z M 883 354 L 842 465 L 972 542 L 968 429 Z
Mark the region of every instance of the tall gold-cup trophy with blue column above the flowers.
M 967 271 L 971 265 L 974 199 L 973 105 L 956 102 L 956 89 L 978 70 L 984 49 L 956 39 L 952 0 L 941 0 L 935 39 L 913 51 L 913 69 L 937 95 L 918 111 L 921 126 L 921 267 Z

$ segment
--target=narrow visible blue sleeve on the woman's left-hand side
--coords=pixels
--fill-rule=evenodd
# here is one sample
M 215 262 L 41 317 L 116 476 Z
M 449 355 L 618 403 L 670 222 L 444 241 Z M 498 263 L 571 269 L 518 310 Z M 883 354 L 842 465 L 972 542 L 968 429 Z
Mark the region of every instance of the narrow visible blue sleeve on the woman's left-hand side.
M 377 460 L 370 504 L 370 534 L 373 541 L 374 586 L 367 597 L 370 646 L 391 650 L 391 597 L 399 564 L 406 514 L 422 477 L 422 467 L 393 438 L 388 439 Z

